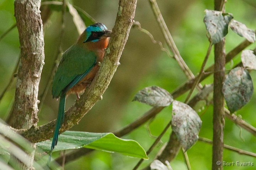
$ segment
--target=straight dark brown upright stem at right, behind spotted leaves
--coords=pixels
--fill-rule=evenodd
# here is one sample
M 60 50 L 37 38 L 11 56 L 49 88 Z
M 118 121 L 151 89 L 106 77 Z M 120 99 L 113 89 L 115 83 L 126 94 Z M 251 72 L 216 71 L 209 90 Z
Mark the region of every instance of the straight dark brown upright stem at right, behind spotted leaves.
M 225 0 L 214 0 L 214 10 L 224 10 Z M 225 80 L 225 38 L 214 44 L 214 81 L 213 81 L 213 151 L 212 170 L 222 170 L 223 165 L 217 161 L 223 161 L 223 138 L 225 126 L 225 99 L 222 86 Z

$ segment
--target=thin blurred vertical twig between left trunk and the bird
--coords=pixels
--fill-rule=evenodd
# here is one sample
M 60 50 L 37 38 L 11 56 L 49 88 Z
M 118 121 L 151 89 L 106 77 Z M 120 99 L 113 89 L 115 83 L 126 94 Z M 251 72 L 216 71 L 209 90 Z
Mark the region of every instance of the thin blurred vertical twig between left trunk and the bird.
M 38 107 L 38 114 L 41 112 L 42 110 L 42 107 L 43 107 L 43 103 L 44 103 L 44 100 L 46 99 L 46 95 L 49 91 L 49 88 L 50 86 L 52 86 L 52 79 L 54 77 L 54 73 L 58 67 L 58 64 L 57 64 L 57 61 L 59 62 L 60 58 L 62 57 L 61 53 L 62 53 L 62 40 L 63 40 L 63 37 L 64 37 L 64 28 L 65 28 L 65 23 L 64 23 L 64 17 L 65 17 L 65 13 L 66 13 L 66 1 L 63 0 L 62 1 L 62 26 L 61 26 L 61 29 L 60 29 L 60 39 L 59 39 L 59 48 L 58 48 L 58 51 L 57 51 L 57 54 L 54 58 L 54 64 L 52 66 L 52 73 L 50 74 L 48 80 L 47 80 L 47 85 L 46 87 L 44 88 L 43 90 L 43 94 L 42 94 L 42 97 L 40 99 L 40 103 L 39 103 L 39 107 Z

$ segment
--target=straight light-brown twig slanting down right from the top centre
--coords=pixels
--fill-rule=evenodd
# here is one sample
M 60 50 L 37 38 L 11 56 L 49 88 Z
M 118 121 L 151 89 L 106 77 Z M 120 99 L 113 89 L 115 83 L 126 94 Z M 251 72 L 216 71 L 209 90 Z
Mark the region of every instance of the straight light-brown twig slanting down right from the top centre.
M 172 39 L 171 33 L 169 32 L 169 29 L 166 26 L 166 23 L 164 21 L 164 18 L 162 17 L 162 14 L 160 12 L 158 4 L 156 3 L 156 0 L 149 0 L 149 3 L 154 12 L 156 20 L 158 21 L 159 27 L 161 28 L 161 31 L 164 34 L 166 43 L 171 49 L 172 53 L 174 54 L 175 60 L 178 62 L 178 65 L 181 67 L 182 71 L 185 73 L 185 75 L 189 79 L 194 78 L 192 71 L 188 68 L 187 64 L 182 59 L 180 52 L 178 51 L 177 46 L 175 45 L 174 40 Z M 201 88 L 202 88 L 202 85 L 199 84 L 198 89 L 200 90 Z

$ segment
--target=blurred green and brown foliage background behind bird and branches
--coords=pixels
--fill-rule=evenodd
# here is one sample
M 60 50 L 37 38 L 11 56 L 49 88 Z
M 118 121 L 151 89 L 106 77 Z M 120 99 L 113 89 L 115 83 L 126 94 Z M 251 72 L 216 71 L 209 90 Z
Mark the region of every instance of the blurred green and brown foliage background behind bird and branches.
M 250 3 L 248 3 L 250 2 Z M 79 6 L 89 13 L 97 22 L 104 23 L 108 29 L 114 26 L 116 13 L 118 10 L 118 0 L 73 0 L 71 4 Z M 250 5 L 251 4 L 251 5 Z M 209 45 L 206 37 L 206 28 L 203 23 L 204 10 L 213 9 L 213 1 L 209 0 L 159 0 L 159 8 L 165 19 L 165 22 L 175 40 L 181 56 L 194 74 L 200 70 L 204 56 Z M 232 0 L 226 3 L 226 12 L 233 13 L 234 19 L 240 21 L 248 28 L 256 28 L 256 3 L 255 0 Z M 61 28 L 61 12 L 53 12 L 48 22 L 44 25 L 44 43 L 45 43 L 45 65 L 41 76 L 39 86 L 39 100 L 44 87 L 47 85 L 47 79 L 50 75 L 50 69 L 54 64 L 54 58 L 58 51 Z M 153 34 L 156 40 L 160 40 L 164 46 L 164 37 L 156 23 L 153 12 L 148 0 L 139 0 L 135 13 L 135 21 L 141 23 L 142 28 L 147 29 Z M 62 49 L 66 50 L 75 43 L 79 34 L 76 31 L 72 16 L 69 13 L 65 15 L 65 30 Z M 0 0 L 0 35 L 16 23 L 14 17 L 14 0 Z M 232 31 L 226 36 L 226 52 L 233 49 L 242 42 L 244 38 L 239 37 Z M 248 49 L 254 49 L 255 44 Z M 12 72 L 18 61 L 20 49 L 17 28 L 13 29 L 0 42 L 0 94 L 6 87 Z M 228 63 L 226 69 L 232 68 L 240 62 L 240 55 L 233 60 L 234 64 Z M 112 132 L 130 124 L 139 116 L 143 115 L 151 107 L 131 102 L 133 96 L 142 88 L 148 86 L 159 86 L 172 92 L 175 88 L 186 81 L 186 76 L 178 66 L 177 62 L 162 52 L 157 44 L 153 44 L 148 35 L 132 28 L 129 39 L 124 48 L 121 60 L 110 86 L 103 94 L 103 100 L 97 102 L 95 106 L 87 113 L 78 125 L 71 128 L 76 131 L 88 132 Z M 214 63 L 213 51 L 209 57 L 206 67 Z M 250 75 L 256 83 L 256 72 L 251 71 Z M 202 82 L 209 84 L 213 82 L 213 76 L 210 76 Z M 15 82 L 16 83 L 16 82 Z M 8 117 L 11 104 L 14 100 L 15 83 L 12 84 L 10 91 L 6 93 L 0 103 L 0 118 Z M 187 94 L 187 93 L 186 93 Z M 177 100 L 184 101 L 186 94 Z M 66 109 L 75 102 L 75 95 L 70 95 L 66 101 Z M 250 102 L 239 110 L 236 114 L 256 127 L 256 93 L 254 92 Z M 58 101 L 52 99 L 50 91 L 46 97 L 43 108 L 39 116 L 38 125 L 45 124 L 57 116 Z M 203 110 L 204 111 L 204 110 Z M 199 133 L 201 137 L 212 139 L 212 106 L 201 117 L 203 123 Z M 200 113 L 199 113 L 200 114 Z M 158 136 L 171 119 L 171 106 L 165 108 L 149 125 L 153 136 Z M 149 160 L 145 160 L 141 167 L 148 165 L 154 159 L 156 153 L 168 141 L 171 130 L 162 138 L 154 151 L 149 155 Z M 238 147 L 250 152 L 256 152 L 256 138 L 249 132 L 243 130 L 240 137 L 240 128 L 233 122 L 226 119 L 224 143 Z M 142 125 L 137 130 L 123 137 L 138 141 L 142 147 L 147 150 L 154 142 L 154 138 L 149 135 L 146 125 Z M 190 150 L 188 157 L 192 169 L 211 169 L 212 146 L 202 142 L 197 142 Z M 59 153 L 55 153 L 57 157 Z M 253 167 L 225 166 L 225 170 L 252 170 L 256 169 L 256 159 L 253 157 L 239 155 L 228 150 L 224 151 L 224 161 L 226 162 L 253 162 Z M 129 170 L 132 169 L 139 159 L 126 157 L 116 153 L 105 153 L 95 151 L 84 157 L 72 161 L 65 165 L 65 169 L 77 170 Z M 180 152 L 174 161 L 171 162 L 174 170 L 186 169 L 183 155 Z

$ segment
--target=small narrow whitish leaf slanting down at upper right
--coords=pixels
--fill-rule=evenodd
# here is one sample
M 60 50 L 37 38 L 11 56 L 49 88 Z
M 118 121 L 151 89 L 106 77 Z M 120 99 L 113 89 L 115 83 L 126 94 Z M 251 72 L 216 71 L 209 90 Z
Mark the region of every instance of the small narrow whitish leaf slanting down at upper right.
M 232 20 L 230 23 L 230 28 L 241 37 L 246 38 L 249 42 L 255 42 L 255 32 L 252 29 L 249 29 L 245 26 L 245 24 L 238 22 L 236 20 Z

